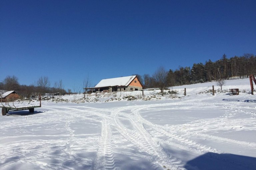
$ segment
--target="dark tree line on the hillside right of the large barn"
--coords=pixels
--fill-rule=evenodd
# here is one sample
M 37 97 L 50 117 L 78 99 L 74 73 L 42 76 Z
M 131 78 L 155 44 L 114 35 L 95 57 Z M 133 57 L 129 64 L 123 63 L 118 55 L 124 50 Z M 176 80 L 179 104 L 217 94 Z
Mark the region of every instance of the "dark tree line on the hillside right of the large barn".
M 194 63 L 189 66 L 179 67 L 179 69 L 168 71 L 159 67 L 155 73 L 137 75 L 144 89 L 166 88 L 179 85 L 212 82 L 219 80 L 229 80 L 231 77 L 248 77 L 256 73 L 256 56 L 246 53 L 243 56 L 227 58 L 226 54 L 213 62 L 210 59 L 203 63 Z M 162 91 L 162 90 L 161 90 Z

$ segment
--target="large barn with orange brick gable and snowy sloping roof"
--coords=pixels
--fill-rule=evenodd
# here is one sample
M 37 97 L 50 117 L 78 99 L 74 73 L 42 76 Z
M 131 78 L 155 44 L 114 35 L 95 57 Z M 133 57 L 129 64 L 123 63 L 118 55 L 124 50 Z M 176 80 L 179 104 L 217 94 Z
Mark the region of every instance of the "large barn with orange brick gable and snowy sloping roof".
M 95 89 L 96 91 L 100 92 L 138 91 L 142 90 L 142 85 L 138 80 L 137 76 L 134 75 L 127 77 L 103 79 L 95 87 L 85 89 Z

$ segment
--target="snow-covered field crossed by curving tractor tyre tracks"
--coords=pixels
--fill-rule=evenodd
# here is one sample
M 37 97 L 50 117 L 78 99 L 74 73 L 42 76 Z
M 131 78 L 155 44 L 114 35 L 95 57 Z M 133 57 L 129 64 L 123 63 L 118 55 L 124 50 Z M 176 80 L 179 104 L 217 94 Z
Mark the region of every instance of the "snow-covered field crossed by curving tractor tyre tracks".
M 34 114 L 9 112 L 0 116 L 0 170 L 256 169 L 249 79 L 226 81 L 224 90 L 246 92 L 237 96 L 205 93 L 212 85 L 219 88 L 215 82 L 173 87 L 181 97 L 174 99 L 104 102 L 113 96 L 102 94 L 96 103 L 42 101 Z

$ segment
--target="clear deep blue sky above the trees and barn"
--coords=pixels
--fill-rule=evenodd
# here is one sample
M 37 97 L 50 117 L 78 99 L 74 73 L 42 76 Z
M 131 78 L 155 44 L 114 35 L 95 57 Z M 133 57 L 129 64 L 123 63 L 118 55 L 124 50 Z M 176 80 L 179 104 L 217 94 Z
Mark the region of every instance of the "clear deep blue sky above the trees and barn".
M 0 81 L 65 89 L 256 54 L 256 1 L 0 1 Z

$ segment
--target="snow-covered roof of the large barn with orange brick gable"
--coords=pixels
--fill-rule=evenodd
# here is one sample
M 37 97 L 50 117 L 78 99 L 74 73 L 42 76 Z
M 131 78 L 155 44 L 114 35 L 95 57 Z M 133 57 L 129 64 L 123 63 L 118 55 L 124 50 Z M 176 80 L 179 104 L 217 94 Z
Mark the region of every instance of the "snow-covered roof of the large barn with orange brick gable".
M 103 79 L 95 87 L 98 88 L 98 87 L 108 87 L 108 86 L 128 86 L 135 77 L 136 75 Z

